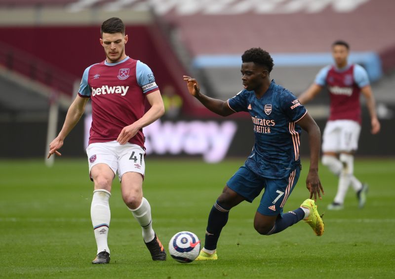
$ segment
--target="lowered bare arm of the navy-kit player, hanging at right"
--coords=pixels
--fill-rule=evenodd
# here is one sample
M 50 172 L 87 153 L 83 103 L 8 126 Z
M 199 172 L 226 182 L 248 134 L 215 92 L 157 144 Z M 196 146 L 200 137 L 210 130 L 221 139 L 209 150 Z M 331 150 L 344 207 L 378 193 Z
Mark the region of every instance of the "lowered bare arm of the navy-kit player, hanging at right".
M 306 178 L 306 187 L 310 192 L 310 199 L 322 199 L 324 189 L 322 188 L 321 182 L 318 176 L 318 160 L 321 145 L 321 132 L 316 124 L 316 121 L 306 113 L 305 116 L 298 120 L 298 125 L 302 127 L 309 134 L 309 145 L 310 145 L 310 168 Z

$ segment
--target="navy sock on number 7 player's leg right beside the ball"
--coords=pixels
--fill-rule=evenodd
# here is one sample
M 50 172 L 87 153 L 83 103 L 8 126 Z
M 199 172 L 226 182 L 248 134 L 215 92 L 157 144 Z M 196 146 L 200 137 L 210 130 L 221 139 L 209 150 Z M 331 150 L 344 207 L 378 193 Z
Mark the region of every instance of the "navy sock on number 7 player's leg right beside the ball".
M 204 241 L 204 248 L 206 250 L 215 250 L 222 228 L 228 222 L 229 209 L 224 208 L 216 201 L 211 208 L 208 215 L 206 237 Z

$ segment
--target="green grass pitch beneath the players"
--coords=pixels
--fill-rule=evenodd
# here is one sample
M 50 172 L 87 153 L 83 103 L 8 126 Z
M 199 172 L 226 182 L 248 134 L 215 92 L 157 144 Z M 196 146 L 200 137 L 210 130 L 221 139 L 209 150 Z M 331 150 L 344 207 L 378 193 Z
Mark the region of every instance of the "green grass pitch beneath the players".
M 184 230 L 204 242 L 208 212 L 243 162 L 146 158 L 144 196 L 166 248 Z M 285 212 L 308 198 L 308 167 L 304 161 Z M 190 264 L 171 257 L 151 260 L 116 179 L 110 199 L 111 263 L 92 265 L 93 185 L 87 171 L 85 159 L 58 158 L 52 168 L 43 160 L 0 161 L 0 278 L 395 278 L 395 159 L 357 159 L 355 174 L 369 184 L 367 204 L 358 209 L 350 188 L 342 211 L 326 210 L 337 179 L 320 166 L 325 189 L 318 201 L 318 211 L 324 213 L 322 237 L 303 222 L 260 236 L 253 228 L 256 199 L 231 210 L 218 243 L 218 261 Z

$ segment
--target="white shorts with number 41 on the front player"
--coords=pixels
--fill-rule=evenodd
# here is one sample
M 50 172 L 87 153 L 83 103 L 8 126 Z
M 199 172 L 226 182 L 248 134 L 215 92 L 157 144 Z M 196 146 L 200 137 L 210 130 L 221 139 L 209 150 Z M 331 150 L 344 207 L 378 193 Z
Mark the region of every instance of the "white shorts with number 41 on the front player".
M 141 173 L 144 177 L 145 151 L 136 144 L 120 145 L 117 141 L 91 143 L 86 149 L 86 154 L 88 155 L 89 174 L 94 165 L 105 163 L 114 173 L 118 173 L 119 181 L 122 175 L 129 171 Z

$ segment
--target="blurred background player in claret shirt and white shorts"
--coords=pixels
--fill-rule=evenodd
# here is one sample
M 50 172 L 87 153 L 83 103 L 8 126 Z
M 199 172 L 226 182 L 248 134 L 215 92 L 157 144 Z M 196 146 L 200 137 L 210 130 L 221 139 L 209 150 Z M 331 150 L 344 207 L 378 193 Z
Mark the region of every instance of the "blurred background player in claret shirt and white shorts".
M 350 184 L 356 191 L 358 206 L 366 201 L 367 185 L 354 176 L 354 153 L 358 147 L 361 129 L 361 107 L 359 95 L 362 92 L 370 114 L 372 134 L 380 131 L 375 101 L 366 71 L 357 64 L 349 64 L 349 44 L 338 40 L 332 44 L 335 65 L 319 71 L 315 82 L 299 96 L 306 104 L 326 86 L 330 96 L 330 115 L 322 136 L 322 164 L 339 176 L 335 199 L 328 205 L 330 210 L 343 209 L 344 198 Z

